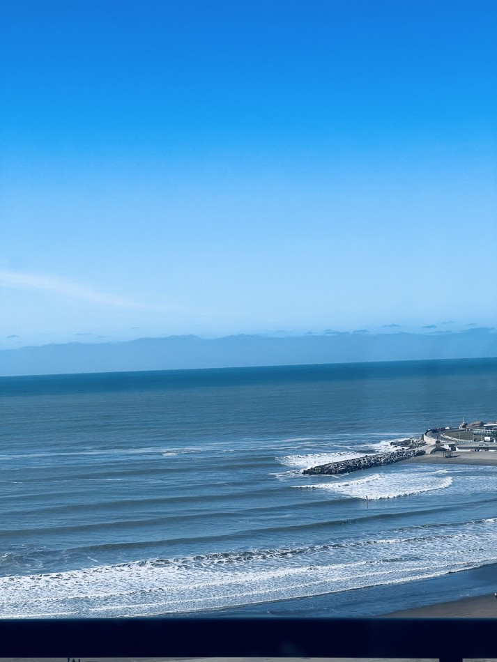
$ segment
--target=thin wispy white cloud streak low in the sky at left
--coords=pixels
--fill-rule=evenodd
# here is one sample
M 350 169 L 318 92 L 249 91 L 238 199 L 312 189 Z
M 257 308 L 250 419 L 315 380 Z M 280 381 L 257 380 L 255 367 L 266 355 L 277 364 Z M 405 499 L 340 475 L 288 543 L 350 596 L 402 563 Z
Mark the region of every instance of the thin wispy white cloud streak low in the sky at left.
M 160 306 L 148 305 L 133 301 L 127 297 L 100 292 L 57 276 L 0 270 L 0 286 L 52 292 L 72 299 L 89 301 L 114 308 L 162 309 Z

